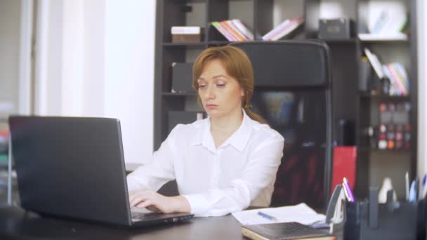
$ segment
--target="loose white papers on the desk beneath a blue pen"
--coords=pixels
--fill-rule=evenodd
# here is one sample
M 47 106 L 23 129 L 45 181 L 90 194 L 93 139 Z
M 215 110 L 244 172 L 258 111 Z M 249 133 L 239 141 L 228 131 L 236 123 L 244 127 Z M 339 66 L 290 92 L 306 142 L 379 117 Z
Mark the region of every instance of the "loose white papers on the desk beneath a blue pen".
M 274 220 L 263 217 L 259 212 L 272 216 Z M 299 222 L 303 225 L 312 225 L 315 222 L 324 222 L 325 215 L 318 214 L 306 204 L 283 206 L 278 208 L 259 208 L 240 211 L 232 215 L 242 225 L 268 224 L 278 222 Z

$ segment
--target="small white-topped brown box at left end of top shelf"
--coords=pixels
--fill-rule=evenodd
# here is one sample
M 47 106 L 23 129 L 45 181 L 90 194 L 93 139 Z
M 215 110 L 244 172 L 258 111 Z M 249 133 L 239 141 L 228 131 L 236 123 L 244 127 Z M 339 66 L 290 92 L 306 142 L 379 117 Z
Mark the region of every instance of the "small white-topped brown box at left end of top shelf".
M 173 26 L 171 34 L 174 44 L 199 43 L 203 39 L 203 27 Z

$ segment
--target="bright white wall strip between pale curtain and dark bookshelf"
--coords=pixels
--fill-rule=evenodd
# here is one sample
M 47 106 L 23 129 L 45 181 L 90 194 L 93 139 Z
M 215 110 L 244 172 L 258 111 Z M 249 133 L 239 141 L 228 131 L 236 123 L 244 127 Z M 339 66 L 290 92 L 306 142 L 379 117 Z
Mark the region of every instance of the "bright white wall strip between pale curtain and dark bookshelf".
M 119 116 L 126 161 L 153 149 L 155 0 L 106 1 L 105 116 Z

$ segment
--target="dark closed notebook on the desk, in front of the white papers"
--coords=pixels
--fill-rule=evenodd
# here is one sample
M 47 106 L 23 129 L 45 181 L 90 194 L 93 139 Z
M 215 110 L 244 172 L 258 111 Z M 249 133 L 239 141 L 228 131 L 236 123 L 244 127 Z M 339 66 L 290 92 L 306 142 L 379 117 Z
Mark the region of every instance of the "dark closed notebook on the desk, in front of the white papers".
M 316 239 L 333 240 L 326 230 L 314 229 L 298 222 L 243 225 L 242 235 L 254 240 Z

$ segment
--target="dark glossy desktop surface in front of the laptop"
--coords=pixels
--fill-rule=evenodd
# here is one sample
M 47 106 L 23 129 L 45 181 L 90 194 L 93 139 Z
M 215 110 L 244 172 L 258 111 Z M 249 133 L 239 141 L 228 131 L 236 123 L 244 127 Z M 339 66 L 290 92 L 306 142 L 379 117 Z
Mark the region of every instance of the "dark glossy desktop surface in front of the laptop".
M 0 239 L 242 239 L 232 216 L 193 218 L 171 225 L 126 229 L 72 220 L 41 218 L 19 207 L 0 208 Z

